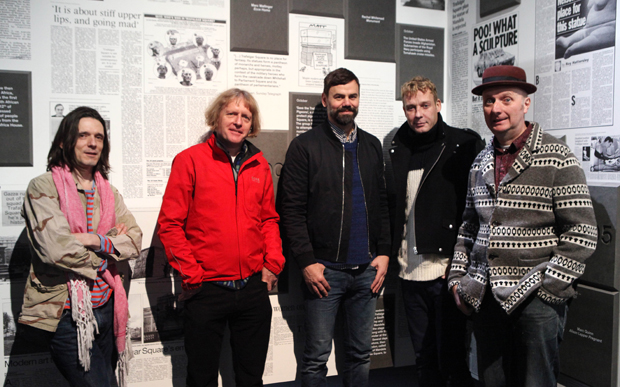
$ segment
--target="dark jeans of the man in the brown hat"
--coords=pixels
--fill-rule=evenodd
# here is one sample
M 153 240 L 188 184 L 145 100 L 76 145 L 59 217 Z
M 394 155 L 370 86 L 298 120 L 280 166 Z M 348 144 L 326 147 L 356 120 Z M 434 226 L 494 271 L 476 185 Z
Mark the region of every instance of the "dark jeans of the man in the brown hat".
M 567 309 L 530 296 L 508 315 L 487 288 L 473 317 L 481 385 L 555 387 Z

